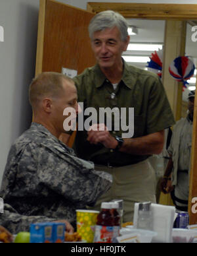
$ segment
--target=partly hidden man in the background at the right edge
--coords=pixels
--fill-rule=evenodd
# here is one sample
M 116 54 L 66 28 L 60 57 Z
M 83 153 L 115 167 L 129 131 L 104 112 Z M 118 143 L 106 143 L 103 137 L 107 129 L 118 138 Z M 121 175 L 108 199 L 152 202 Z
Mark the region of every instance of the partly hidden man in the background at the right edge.
M 177 210 L 188 211 L 190 155 L 195 91 L 188 94 L 188 115 L 177 121 L 168 148 L 169 162 L 161 183 L 162 192 L 170 193 Z

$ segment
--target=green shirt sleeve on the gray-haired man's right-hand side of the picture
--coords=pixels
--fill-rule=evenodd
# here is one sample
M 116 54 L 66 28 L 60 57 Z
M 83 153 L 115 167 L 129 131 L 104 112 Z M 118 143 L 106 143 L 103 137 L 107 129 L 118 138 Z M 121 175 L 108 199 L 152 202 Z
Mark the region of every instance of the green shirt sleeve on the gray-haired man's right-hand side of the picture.
M 156 77 L 149 92 L 147 133 L 156 133 L 174 124 L 175 119 L 167 100 L 164 86 L 160 78 Z

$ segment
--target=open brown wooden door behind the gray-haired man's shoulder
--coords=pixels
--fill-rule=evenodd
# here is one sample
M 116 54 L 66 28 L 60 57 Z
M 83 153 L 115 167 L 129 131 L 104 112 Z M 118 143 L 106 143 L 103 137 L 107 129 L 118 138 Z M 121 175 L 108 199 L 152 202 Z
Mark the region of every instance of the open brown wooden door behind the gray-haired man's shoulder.
M 95 65 L 88 26 L 94 14 L 54 0 L 40 0 L 35 75 L 62 68 L 78 74 Z M 75 138 L 73 133 L 69 146 Z

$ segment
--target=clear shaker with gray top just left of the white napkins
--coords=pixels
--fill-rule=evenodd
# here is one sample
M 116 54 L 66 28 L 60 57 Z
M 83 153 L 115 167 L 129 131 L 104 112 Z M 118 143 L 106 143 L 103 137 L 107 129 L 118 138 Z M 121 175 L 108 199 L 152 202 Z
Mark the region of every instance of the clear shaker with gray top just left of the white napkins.
M 152 230 L 152 210 L 150 208 L 151 203 L 140 203 L 137 228 L 142 230 Z

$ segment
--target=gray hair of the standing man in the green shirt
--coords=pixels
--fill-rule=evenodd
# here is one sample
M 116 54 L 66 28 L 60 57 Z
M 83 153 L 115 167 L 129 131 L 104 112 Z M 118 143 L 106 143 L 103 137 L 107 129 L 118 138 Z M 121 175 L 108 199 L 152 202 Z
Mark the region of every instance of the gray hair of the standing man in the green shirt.
M 103 11 L 94 16 L 89 24 L 89 37 L 93 39 L 93 34 L 106 28 L 117 28 L 120 30 L 121 40 L 125 42 L 128 36 L 127 20 L 114 11 Z

